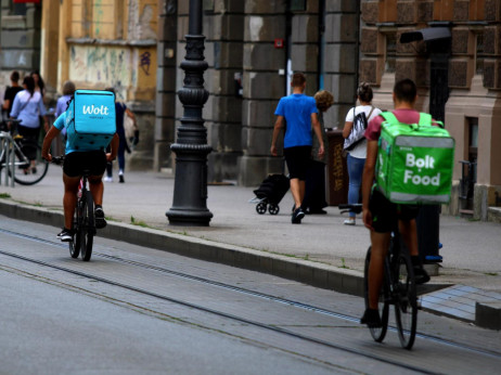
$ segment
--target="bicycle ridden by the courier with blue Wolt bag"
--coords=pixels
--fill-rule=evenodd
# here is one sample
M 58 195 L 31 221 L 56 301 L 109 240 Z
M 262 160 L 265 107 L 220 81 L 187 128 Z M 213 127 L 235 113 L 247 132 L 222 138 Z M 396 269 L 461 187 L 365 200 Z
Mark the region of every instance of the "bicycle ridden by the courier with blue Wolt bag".
M 64 156 L 52 157 L 52 163 L 62 165 Z M 75 207 L 75 215 L 73 220 L 73 228 L 75 237 L 69 244 L 69 255 L 72 258 L 81 256 L 81 260 L 89 261 L 92 256 L 92 245 L 94 235 L 97 233 L 94 220 L 94 199 L 92 194 L 87 189 L 87 179 L 89 178 L 89 170 L 84 171 L 80 181 L 80 189 L 78 191 L 77 205 Z

